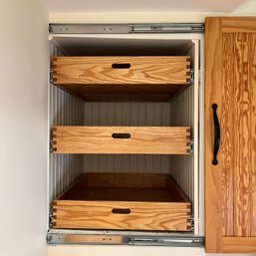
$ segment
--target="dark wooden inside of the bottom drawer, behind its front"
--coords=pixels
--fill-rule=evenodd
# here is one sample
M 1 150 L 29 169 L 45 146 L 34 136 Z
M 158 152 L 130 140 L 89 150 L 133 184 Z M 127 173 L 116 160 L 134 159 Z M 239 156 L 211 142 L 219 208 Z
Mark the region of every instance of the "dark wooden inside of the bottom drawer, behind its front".
M 189 203 L 169 175 L 153 173 L 87 173 L 58 199 Z

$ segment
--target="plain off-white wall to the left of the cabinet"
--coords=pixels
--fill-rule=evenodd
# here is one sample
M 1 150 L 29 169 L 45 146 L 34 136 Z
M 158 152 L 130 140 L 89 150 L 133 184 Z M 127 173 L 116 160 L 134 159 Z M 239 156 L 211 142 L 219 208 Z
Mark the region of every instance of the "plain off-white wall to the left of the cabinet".
M 0 255 L 46 255 L 48 15 L 0 1 Z

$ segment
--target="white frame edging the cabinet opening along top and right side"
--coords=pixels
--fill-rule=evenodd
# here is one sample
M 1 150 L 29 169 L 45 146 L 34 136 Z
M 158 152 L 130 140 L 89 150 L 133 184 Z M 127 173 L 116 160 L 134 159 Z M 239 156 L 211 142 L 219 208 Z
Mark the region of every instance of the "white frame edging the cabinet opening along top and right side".
M 57 47 L 58 46 L 58 40 L 56 41 L 57 38 L 59 37 L 67 37 L 67 35 L 60 35 L 60 34 L 52 34 L 51 36 L 53 36 L 53 38 L 51 37 L 51 40 L 53 42 L 53 44 L 55 44 Z M 79 35 L 82 38 L 92 38 L 92 34 L 81 34 Z M 105 34 L 99 34 L 99 35 L 93 35 L 96 36 L 97 38 L 105 38 L 106 35 Z M 69 35 L 69 37 L 73 37 L 72 35 Z M 195 65 L 195 71 L 193 74 L 193 82 L 194 85 L 196 86 L 196 90 L 194 92 L 194 103 L 193 106 L 196 110 L 198 110 L 198 106 L 203 105 L 203 96 L 202 96 L 202 91 L 203 91 L 203 87 L 199 87 L 199 77 L 200 77 L 200 81 L 201 83 L 203 82 L 203 48 L 202 48 L 202 44 L 203 44 L 203 34 L 201 34 L 201 32 L 198 33 L 192 33 L 192 34 L 172 34 L 172 33 L 168 33 L 168 34 L 153 34 L 153 33 L 146 33 L 146 34 L 117 34 L 117 35 L 108 35 L 108 37 L 110 38 L 122 38 L 122 39 L 143 39 L 143 40 L 173 40 L 173 39 L 180 39 L 180 40 L 190 40 L 193 44 L 194 44 L 194 55 L 197 56 L 194 59 L 194 65 Z M 199 97 L 199 92 L 200 92 L 200 97 Z M 203 169 L 198 170 L 198 163 L 199 163 L 199 159 L 198 159 L 198 150 L 202 150 L 203 148 L 203 140 L 200 139 L 200 141 L 198 140 L 198 134 L 200 134 L 200 137 L 202 138 L 202 134 L 204 132 L 203 130 L 203 124 L 200 122 L 199 123 L 199 116 L 202 117 L 203 112 L 200 111 L 197 112 L 195 111 L 194 113 L 194 117 L 193 117 L 193 121 L 194 121 L 194 128 L 193 128 L 193 133 L 195 134 L 195 139 L 193 141 L 193 148 L 194 148 L 194 169 L 195 169 L 195 173 L 194 173 L 194 179 L 195 179 L 195 184 L 194 184 L 194 188 L 193 191 L 194 193 L 197 195 L 195 196 L 195 202 L 193 207 L 194 208 L 198 208 L 198 204 L 199 204 L 199 200 L 200 200 L 200 204 L 203 203 L 203 185 L 200 183 L 200 186 L 198 184 L 198 179 L 200 176 L 200 179 L 203 178 Z M 201 120 L 201 119 L 200 119 Z M 199 129 L 200 126 L 200 129 Z M 49 128 L 52 128 L 52 126 L 50 126 Z M 198 146 L 198 144 L 200 143 L 200 146 Z M 198 148 L 199 147 L 199 148 Z M 200 161 L 202 161 L 203 159 L 200 158 Z M 202 166 L 202 165 L 201 165 Z M 200 192 L 199 192 L 200 191 Z M 49 196 L 50 197 L 50 196 Z M 199 240 L 196 239 L 192 239 L 194 243 L 191 243 L 188 246 L 202 246 L 203 245 L 203 216 L 204 212 L 203 210 L 200 209 L 200 213 L 198 211 L 196 211 L 195 215 L 193 216 L 193 221 L 194 221 L 194 232 L 193 234 L 191 233 L 191 237 L 194 237 L 194 235 L 196 237 L 198 237 Z M 200 218 L 200 225 L 199 225 L 199 218 Z M 54 232 L 52 230 L 52 232 Z M 65 233 L 64 230 L 60 230 L 60 233 Z M 99 231 L 100 232 L 100 231 Z M 49 233 L 51 233 L 51 229 L 49 231 Z M 89 234 L 90 231 L 87 231 L 87 233 Z M 156 233 L 155 232 L 148 232 L 146 233 L 148 235 L 150 235 L 151 237 L 155 237 Z M 138 233 L 135 231 L 131 232 L 132 237 L 138 237 Z M 167 234 L 162 233 L 162 236 L 165 237 L 167 239 Z M 173 234 L 172 234 L 173 236 Z M 177 237 L 184 237 L 182 234 L 177 234 Z M 176 239 L 177 241 L 178 239 Z M 181 239 L 182 240 L 182 239 Z M 196 245 L 196 243 L 198 242 L 198 244 Z M 161 242 L 159 240 L 158 242 L 159 245 L 161 245 Z M 166 243 L 166 245 L 169 245 L 169 243 Z M 174 243 L 175 244 L 175 243 Z M 179 244 L 177 242 L 177 244 Z

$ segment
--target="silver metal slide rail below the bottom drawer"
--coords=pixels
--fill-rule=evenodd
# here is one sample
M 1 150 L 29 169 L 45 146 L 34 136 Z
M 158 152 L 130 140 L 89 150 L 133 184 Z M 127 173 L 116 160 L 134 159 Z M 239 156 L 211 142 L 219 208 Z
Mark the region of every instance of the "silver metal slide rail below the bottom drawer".
M 170 232 L 51 229 L 47 235 L 47 242 L 48 244 L 203 247 L 204 237 Z

